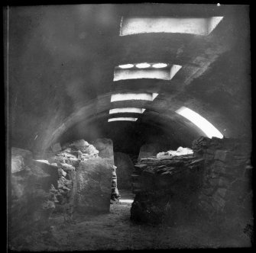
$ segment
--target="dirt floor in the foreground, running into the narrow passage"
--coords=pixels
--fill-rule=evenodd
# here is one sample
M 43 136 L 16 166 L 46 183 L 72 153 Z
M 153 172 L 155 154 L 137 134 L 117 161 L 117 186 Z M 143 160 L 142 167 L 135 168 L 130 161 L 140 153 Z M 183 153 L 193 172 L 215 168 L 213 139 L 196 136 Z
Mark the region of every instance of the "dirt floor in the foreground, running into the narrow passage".
M 76 216 L 73 224 L 53 216 L 52 231 L 28 239 L 29 251 L 136 250 L 167 248 L 250 247 L 245 234 L 230 239 L 227 232 L 212 231 L 198 223 L 186 226 L 146 226 L 131 223 L 133 195 L 120 191 L 121 202 L 112 204 L 110 213 Z

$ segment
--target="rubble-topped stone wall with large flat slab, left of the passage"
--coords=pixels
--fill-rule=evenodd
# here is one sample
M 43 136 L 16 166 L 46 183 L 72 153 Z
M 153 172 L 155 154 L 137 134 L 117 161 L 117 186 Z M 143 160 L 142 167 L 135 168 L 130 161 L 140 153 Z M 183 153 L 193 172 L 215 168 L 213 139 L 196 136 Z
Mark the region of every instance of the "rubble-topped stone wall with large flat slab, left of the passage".
M 80 139 L 66 143 L 47 161 L 58 168 L 56 212 L 63 213 L 66 221 L 72 221 L 74 213 L 109 212 L 112 158 L 99 157 L 95 146 Z

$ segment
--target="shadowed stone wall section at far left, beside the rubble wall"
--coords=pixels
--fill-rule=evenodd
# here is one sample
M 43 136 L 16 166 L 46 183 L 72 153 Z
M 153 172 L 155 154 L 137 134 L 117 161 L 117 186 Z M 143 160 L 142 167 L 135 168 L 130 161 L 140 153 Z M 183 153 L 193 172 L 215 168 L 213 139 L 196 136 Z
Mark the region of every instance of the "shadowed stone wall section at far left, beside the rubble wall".
M 11 165 L 11 213 L 8 236 L 10 248 L 18 250 L 26 236 L 34 231 L 50 228 L 49 218 L 55 208 L 55 196 L 50 191 L 56 178 L 34 165 L 31 152 L 12 149 Z M 17 160 L 21 161 L 17 170 Z

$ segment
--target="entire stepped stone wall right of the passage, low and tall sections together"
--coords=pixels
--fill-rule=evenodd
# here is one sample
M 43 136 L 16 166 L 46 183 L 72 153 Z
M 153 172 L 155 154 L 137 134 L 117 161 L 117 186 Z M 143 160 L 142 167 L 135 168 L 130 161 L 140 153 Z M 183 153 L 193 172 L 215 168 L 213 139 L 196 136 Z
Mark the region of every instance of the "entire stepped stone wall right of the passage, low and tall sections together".
M 197 217 L 239 232 L 253 225 L 249 140 L 200 137 L 193 154 L 171 153 L 134 166 L 132 220 L 173 224 Z

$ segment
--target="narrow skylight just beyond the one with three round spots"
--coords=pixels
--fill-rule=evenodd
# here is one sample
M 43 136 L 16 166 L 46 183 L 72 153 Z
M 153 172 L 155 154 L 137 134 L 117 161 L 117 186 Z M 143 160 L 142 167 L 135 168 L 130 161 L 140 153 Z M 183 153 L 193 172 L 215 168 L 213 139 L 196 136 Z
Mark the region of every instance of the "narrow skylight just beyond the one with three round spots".
M 154 101 L 157 98 L 157 93 L 119 93 L 111 95 L 111 102 L 125 100 L 147 100 Z

